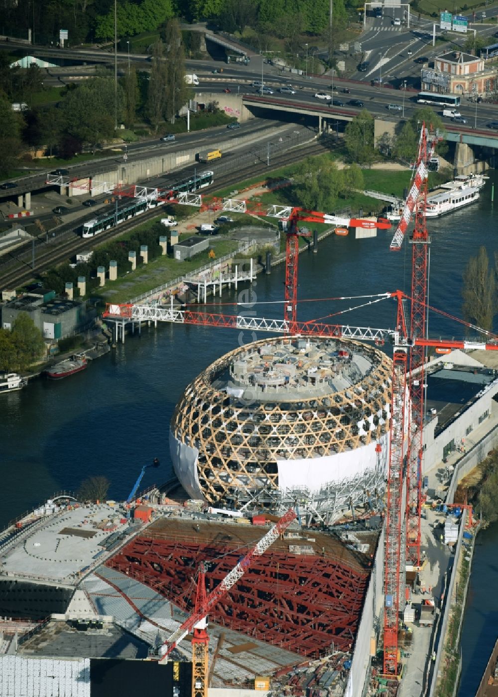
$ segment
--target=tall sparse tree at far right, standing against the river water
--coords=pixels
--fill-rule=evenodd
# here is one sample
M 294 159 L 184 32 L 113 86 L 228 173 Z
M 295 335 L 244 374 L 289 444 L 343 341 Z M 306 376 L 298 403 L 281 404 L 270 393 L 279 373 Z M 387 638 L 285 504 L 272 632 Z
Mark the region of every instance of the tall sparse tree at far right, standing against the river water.
M 497 312 L 496 273 L 489 268 L 485 247 L 480 247 L 477 256 L 471 256 L 465 267 L 462 298 L 465 321 L 483 330 L 492 330 Z

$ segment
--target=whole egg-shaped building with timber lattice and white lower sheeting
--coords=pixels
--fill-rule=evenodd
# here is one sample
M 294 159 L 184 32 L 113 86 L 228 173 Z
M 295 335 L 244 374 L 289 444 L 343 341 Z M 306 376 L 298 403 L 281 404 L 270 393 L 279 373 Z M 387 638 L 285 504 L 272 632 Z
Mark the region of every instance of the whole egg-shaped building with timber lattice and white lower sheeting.
M 176 474 L 193 498 L 256 503 L 331 522 L 384 490 L 391 360 L 344 339 L 263 339 L 213 362 L 171 423 Z

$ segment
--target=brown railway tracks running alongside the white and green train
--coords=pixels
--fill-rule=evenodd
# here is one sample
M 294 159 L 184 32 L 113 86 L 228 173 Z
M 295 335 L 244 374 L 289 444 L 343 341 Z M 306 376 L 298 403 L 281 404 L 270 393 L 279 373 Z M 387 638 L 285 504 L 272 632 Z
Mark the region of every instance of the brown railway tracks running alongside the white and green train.
M 317 141 L 292 148 L 285 153 L 278 153 L 271 158 L 271 169 L 277 169 L 285 164 L 299 162 L 308 155 L 319 155 L 326 152 L 326 146 Z M 242 181 L 259 174 L 266 174 L 269 167 L 266 162 L 252 163 L 246 167 L 227 171 L 225 174 L 216 174 L 216 184 L 207 187 L 204 191 L 210 195 L 234 181 Z M 33 242 L 22 247 L 17 247 L 10 254 L 0 257 L 0 288 L 13 289 L 31 280 L 40 278 L 40 274 L 60 263 L 68 261 L 77 252 L 92 250 L 105 242 L 121 237 L 125 232 L 132 230 L 146 220 L 158 217 L 158 210 L 151 208 L 139 216 L 122 222 L 117 227 L 99 233 L 96 238 L 83 239 L 74 231 L 73 224 L 66 224 L 54 233 L 54 237 L 42 235 L 34 238 Z M 78 226 L 79 227 L 79 226 Z M 34 250 L 34 268 L 33 268 Z

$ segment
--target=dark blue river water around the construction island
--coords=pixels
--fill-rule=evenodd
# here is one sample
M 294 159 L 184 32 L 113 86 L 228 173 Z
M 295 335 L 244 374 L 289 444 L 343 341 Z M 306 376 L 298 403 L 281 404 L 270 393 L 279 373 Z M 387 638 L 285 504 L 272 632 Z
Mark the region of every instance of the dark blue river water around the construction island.
M 498 195 L 497 173 L 492 178 Z M 460 316 L 462 271 L 469 256 L 485 245 L 493 263 L 498 252 L 498 217 L 490 192 L 488 183 L 477 204 L 430 222 L 430 304 L 449 314 Z M 376 238 L 365 240 L 331 236 L 320 243 L 319 254 L 301 254 L 299 298 L 310 302 L 299 305 L 299 319 L 324 317 L 367 302 L 366 298 L 311 302 L 317 298 L 366 296 L 396 289 L 409 293 L 411 247 L 405 242 L 401 252 L 390 252 L 391 236 L 389 231 L 379 231 Z M 282 316 L 284 278 L 283 265 L 274 268 L 270 276 L 260 275 L 250 298 L 257 304 L 245 311 L 256 316 Z M 247 292 L 239 288 L 239 300 L 247 299 Z M 232 290 L 213 303 L 221 312 L 235 314 L 236 308 L 229 305 L 234 300 Z M 263 302 L 272 304 L 260 304 Z M 337 314 L 332 321 L 392 328 L 395 302 L 382 300 Z M 431 314 L 429 325 L 432 334 L 463 333 L 459 325 L 435 314 Z M 162 325 L 144 330 L 141 337 L 127 337 L 124 346 L 120 344 L 72 378 L 56 383 L 36 380 L 20 392 L 1 395 L 0 527 L 54 491 L 77 489 L 89 475 L 105 475 L 111 482 L 109 496 L 123 499 L 142 465 L 158 457 L 160 470 L 149 470 L 142 485 L 166 480 L 172 473 L 168 429 L 176 401 L 209 363 L 250 340 L 249 334 L 234 330 Z M 489 562 L 497 549 L 497 534 L 483 535 L 474 569 L 481 554 L 487 554 Z M 498 569 L 490 567 L 488 575 L 471 586 L 469 618 L 474 616 L 474 602 L 482 609 L 475 615 L 474 629 L 466 629 L 464 642 L 466 636 L 477 633 L 481 643 L 475 653 L 479 657 L 487 657 L 495 641 L 494 636 L 488 637 L 488 651 L 482 627 L 483 608 L 496 597 L 491 591 L 497 583 Z M 467 655 L 473 652 L 464 654 L 465 666 L 469 665 Z M 462 682 L 466 679 L 464 671 Z

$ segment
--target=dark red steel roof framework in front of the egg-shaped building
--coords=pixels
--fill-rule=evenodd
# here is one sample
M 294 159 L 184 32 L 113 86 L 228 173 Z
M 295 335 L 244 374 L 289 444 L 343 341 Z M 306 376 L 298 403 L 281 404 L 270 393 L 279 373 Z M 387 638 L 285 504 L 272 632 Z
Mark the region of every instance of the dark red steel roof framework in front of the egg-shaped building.
M 214 588 L 236 565 L 240 549 L 224 544 L 139 537 L 107 566 L 148 585 L 183 611 L 193 610 L 193 578 L 206 563 Z M 211 622 L 280 648 L 319 657 L 351 650 L 359 625 L 369 572 L 318 555 L 273 550 L 253 560 L 245 576 L 211 611 Z

